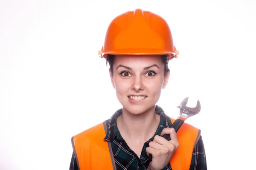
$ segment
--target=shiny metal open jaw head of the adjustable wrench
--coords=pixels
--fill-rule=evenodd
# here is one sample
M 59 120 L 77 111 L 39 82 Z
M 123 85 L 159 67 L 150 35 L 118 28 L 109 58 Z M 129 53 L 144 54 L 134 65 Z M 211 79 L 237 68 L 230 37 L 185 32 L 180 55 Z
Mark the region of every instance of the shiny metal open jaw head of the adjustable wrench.
M 186 104 L 188 103 L 188 99 L 189 99 L 189 97 L 186 97 L 180 103 L 180 105 L 177 106 L 177 108 L 180 109 L 180 114 L 179 114 L 178 119 L 182 119 L 185 121 L 187 118 L 194 116 L 201 111 L 201 104 L 200 104 L 199 100 L 197 101 L 197 105 L 195 108 L 189 108 L 186 106 Z

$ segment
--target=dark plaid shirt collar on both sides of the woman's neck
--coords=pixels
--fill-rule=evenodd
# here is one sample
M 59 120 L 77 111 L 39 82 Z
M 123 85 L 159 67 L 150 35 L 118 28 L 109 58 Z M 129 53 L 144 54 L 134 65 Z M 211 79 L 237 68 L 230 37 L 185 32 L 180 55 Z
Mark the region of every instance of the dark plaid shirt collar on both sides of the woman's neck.
M 155 107 L 155 113 L 160 115 L 160 122 L 156 131 L 155 135 L 160 135 L 163 128 L 169 128 L 172 125 L 171 119 L 169 116 L 167 116 L 163 109 L 156 105 Z M 118 116 L 122 115 L 122 109 L 117 110 L 110 119 L 106 120 L 107 124 L 107 133 L 104 138 L 105 141 L 112 141 L 115 137 L 117 137 L 119 140 L 123 140 L 121 134 L 119 133 L 119 130 L 116 125 L 116 119 Z M 155 136 L 154 135 L 154 136 Z

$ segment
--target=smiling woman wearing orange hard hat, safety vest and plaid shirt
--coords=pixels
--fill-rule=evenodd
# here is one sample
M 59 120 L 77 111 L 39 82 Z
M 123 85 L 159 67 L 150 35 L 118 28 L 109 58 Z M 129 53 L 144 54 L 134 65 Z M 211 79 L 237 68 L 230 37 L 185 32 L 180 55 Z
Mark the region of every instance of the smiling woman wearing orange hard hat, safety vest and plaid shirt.
M 175 133 L 174 119 L 156 105 L 169 80 L 168 62 L 178 55 L 166 21 L 141 9 L 119 15 L 99 55 L 110 65 L 122 108 L 72 137 L 70 170 L 207 170 L 200 130 L 184 123 Z

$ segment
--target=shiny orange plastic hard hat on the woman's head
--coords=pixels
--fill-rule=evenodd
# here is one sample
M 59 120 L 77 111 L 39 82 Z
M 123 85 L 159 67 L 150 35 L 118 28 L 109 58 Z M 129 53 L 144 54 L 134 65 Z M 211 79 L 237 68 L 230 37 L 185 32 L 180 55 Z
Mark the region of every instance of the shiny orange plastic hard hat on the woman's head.
M 177 58 L 171 30 L 166 21 L 150 11 L 136 9 L 125 12 L 108 26 L 105 42 L 99 51 L 105 54 L 169 54 L 169 60 Z

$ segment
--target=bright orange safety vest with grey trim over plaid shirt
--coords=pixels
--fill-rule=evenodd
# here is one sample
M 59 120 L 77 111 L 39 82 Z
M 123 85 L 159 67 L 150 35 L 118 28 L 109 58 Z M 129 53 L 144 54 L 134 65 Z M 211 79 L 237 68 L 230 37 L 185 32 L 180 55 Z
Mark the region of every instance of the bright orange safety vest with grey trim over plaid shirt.
M 171 118 L 171 122 L 174 121 Z M 116 170 L 111 143 L 103 140 L 106 132 L 106 122 L 102 122 L 72 137 L 79 170 Z M 193 149 L 200 135 L 201 130 L 183 123 L 177 132 L 179 147 L 170 160 L 172 170 L 189 170 Z

